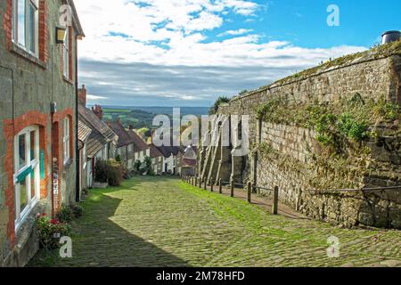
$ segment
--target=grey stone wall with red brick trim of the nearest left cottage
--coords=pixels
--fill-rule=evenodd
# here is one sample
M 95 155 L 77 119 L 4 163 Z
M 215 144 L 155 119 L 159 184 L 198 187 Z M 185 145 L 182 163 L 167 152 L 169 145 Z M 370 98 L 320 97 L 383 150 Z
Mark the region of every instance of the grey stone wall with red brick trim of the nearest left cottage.
M 30 234 L 34 226 L 34 220 L 30 217 L 27 219 L 30 226 L 22 227 L 19 232 L 14 231 L 12 140 L 13 136 L 18 134 L 20 126 L 41 126 L 40 140 L 41 146 L 44 146 L 41 151 L 45 152 L 45 178 L 41 180 L 42 203 L 40 208 L 34 209 L 32 213 L 42 208 L 46 213 L 51 213 L 51 102 L 57 103 L 53 121 L 59 122 L 59 142 L 62 142 L 63 119 L 66 116 L 72 119 L 71 161 L 67 165 L 64 165 L 63 161 L 59 163 L 62 193 L 59 200 L 68 204 L 75 199 L 76 35 L 73 32 L 71 37 L 73 45 L 70 46 L 70 78 L 62 76 L 61 45 L 57 45 L 54 38 L 55 27 L 59 24 L 59 9 L 63 3 L 62 0 L 39 1 L 39 54 L 36 58 L 24 53 L 12 43 L 12 0 L 0 1 L 0 266 L 24 265 L 37 247 L 37 240 Z M 58 157 L 62 158 L 62 147 L 59 151 Z M 27 251 L 23 251 L 24 248 L 28 248 Z

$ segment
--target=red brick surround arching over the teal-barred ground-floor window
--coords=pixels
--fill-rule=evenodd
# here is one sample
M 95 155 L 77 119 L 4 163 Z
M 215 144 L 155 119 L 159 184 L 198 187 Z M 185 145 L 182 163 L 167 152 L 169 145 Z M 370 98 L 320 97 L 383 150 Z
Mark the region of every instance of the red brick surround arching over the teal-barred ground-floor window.
M 7 175 L 8 185 L 5 189 L 5 205 L 9 211 L 9 220 L 7 224 L 7 236 L 10 240 L 12 247 L 15 241 L 15 197 L 13 185 L 13 154 L 14 154 L 14 136 L 19 134 L 27 126 L 37 125 L 40 126 L 40 149 L 45 150 L 45 165 L 47 165 L 49 153 L 47 152 L 47 127 L 49 126 L 49 118 L 47 115 L 37 112 L 29 111 L 28 113 L 20 116 L 19 118 L 4 119 L 4 138 L 7 142 L 7 149 L 5 150 L 4 158 L 4 172 Z M 45 176 L 47 177 L 47 169 L 45 169 Z M 47 179 L 48 182 L 48 179 Z M 47 196 L 47 183 L 41 182 L 41 196 Z

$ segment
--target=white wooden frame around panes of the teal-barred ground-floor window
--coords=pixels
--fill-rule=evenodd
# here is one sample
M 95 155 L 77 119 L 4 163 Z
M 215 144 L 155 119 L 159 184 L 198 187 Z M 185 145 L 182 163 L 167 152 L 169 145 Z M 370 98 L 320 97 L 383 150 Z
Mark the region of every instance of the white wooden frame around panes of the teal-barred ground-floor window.
M 30 134 L 35 132 L 35 159 L 30 157 L 31 155 L 31 145 L 30 145 Z M 20 149 L 19 149 L 19 139 L 20 136 L 24 136 L 25 140 L 25 166 L 20 167 Z M 40 146 L 39 146 L 39 127 L 38 126 L 28 126 L 20 131 L 19 134 L 14 136 L 14 202 L 15 202 L 15 232 L 18 232 L 20 225 L 23 224 L 29 213 L 37 205 L 40 199 Z M 21 210 L 20 208 L 20 183 L 18 183 L 18 176 L 32 168 L 31 174 L 25 177 L 26 192 L 27 192 L 27 206 Z M 34 177 L 32 178 L 32 173 Z M 35 185 L 35 195 L 32 198 L 32 179 Z

